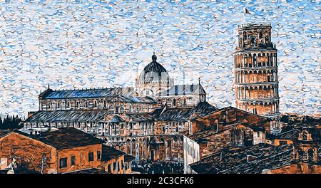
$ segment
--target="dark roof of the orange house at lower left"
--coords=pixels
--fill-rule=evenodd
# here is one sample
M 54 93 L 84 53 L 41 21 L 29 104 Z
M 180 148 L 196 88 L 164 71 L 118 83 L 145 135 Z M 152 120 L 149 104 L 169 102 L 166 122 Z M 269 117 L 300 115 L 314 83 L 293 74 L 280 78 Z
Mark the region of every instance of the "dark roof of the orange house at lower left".
M 14 132 L 44 142 L 46 145 L 51 145 L 58 150 L 103 143 L 103 140 L 71 127 L 41 132 L 40 135 L 30 135 L 30 130 L 25 129 L 15 130 Z

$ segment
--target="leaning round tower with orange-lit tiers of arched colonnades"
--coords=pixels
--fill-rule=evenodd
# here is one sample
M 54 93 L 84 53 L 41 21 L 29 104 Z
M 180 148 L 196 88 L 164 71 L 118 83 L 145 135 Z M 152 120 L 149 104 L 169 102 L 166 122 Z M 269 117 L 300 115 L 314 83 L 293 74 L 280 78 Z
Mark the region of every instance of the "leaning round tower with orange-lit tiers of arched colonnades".
M 234 53 L 236 107 L 269 117 L 271 132 L 280 131 L 277 49 L 270 24 L 238 26 Z

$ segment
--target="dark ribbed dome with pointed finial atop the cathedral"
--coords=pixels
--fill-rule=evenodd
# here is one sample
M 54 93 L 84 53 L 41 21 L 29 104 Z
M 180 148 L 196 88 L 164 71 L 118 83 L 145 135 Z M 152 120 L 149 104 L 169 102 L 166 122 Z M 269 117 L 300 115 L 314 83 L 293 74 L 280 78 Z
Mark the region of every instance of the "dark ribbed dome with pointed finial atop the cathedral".
M 169 75 L 166 69 L 156 61 L 157 56 L 155 53 L 152 56 L 152 60 L 139 75 L 139 81 L 141 83 L 167 83 L 170 80 Z

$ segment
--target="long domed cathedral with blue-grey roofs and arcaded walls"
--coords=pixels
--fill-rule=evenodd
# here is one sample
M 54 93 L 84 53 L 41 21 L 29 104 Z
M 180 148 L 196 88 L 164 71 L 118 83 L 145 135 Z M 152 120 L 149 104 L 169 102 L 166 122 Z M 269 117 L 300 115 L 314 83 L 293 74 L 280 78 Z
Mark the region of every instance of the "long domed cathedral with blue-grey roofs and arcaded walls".
M 134 88 L 52 90 L 39 95 L 39 111 L 24 122 L 36 127 L 75 127 L 95 135 L 136 162 L 183 161 L 183 130 L 191 120 L 218 110 L 206 102 L 200 80 L 174 85 L 155 53 Z

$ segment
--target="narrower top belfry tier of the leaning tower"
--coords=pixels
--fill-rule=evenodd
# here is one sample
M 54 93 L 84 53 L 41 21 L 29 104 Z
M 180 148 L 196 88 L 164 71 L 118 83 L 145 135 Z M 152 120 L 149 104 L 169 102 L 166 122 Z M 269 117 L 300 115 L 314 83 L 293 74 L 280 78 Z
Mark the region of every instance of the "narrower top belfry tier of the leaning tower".
M 246 23 L 238 26 L 236 51 L 276 50 L 271 42 L 270 23 Z

